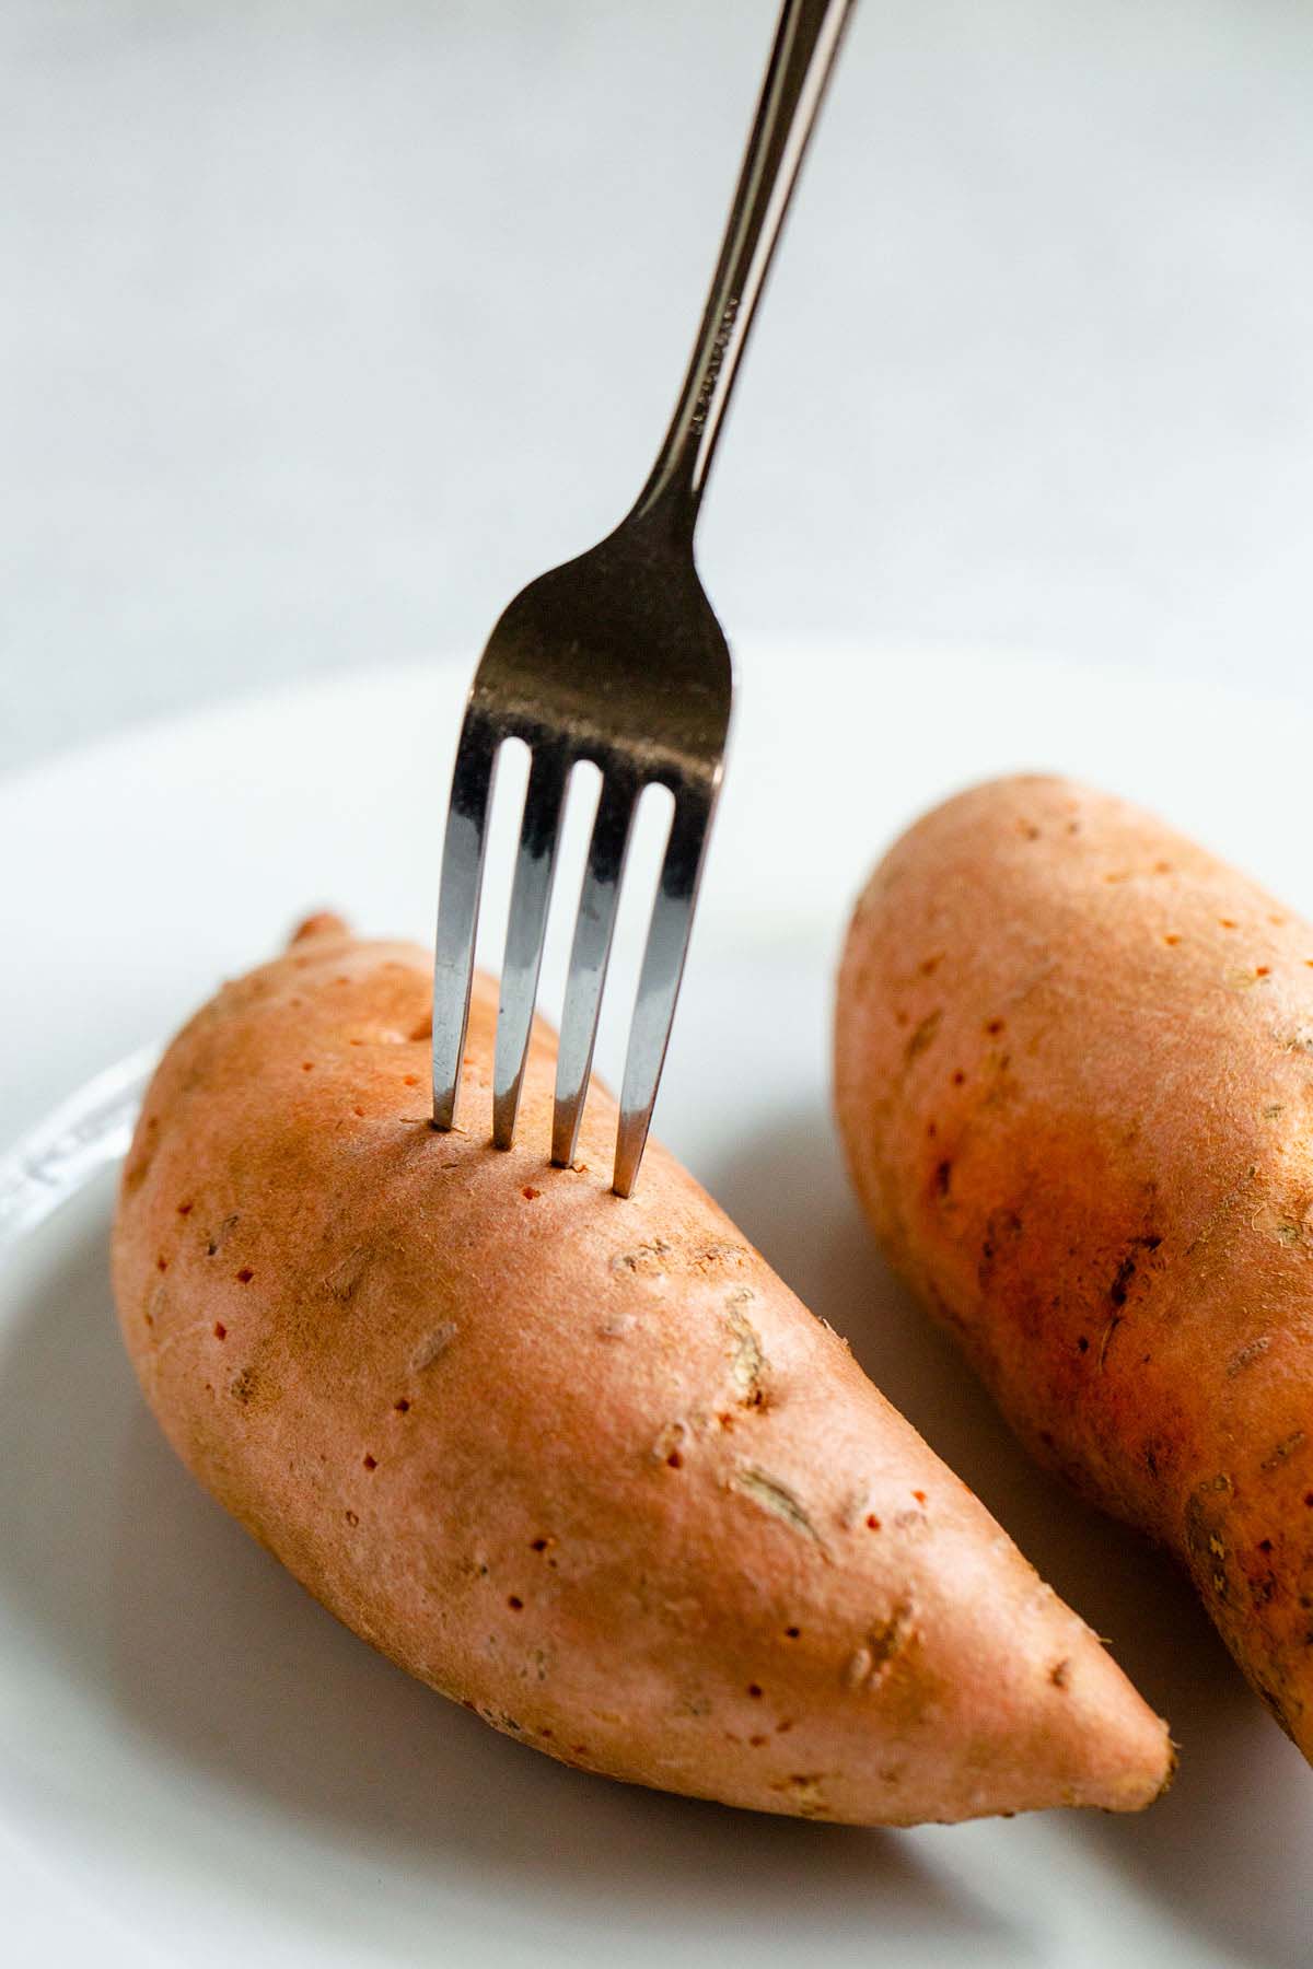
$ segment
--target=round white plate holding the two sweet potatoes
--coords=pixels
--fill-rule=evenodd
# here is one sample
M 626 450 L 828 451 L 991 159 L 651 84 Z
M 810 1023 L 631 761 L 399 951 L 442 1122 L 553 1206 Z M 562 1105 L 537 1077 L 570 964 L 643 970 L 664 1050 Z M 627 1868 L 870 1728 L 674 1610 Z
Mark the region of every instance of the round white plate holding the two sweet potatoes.
M 6 1128 L 171 1030 L 313 904 L 425 935 L 465 677 L 287 693 L 0 788 Z M 1313 719 L 951 652 L 752 648 L 740 695 L 659 1132 L 1112 1636 L 1183 1745 L 1175 1790 L 1136 1819 L 864 1833 L 626 1790 L 492 1735 L 339 1628 L 175 1465 L 114 1335 L 112 1174 L 65 1114 L 67 1201 L 35 1223 L 28 1189 L 0 1252 L 14 1959 L 1307 1963 L 1313 1774 L 1185 1583 L 1022 1459 L 884 1274 L 835 1154 L 827 1024 L 864 866 L 994 770 L 1146 797 L 1307 910 Z

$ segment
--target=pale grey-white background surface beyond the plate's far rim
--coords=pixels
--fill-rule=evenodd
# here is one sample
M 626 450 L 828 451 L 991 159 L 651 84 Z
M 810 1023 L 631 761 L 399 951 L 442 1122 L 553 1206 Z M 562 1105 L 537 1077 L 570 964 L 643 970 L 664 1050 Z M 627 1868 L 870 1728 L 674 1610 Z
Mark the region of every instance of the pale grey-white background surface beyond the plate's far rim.
M 772 24 L 6 0 L 0 768 L 472 654 L 596 538 Z M 1297 689 L 1311 102 L 1303 0 L 860 0 L 705 518 L 730 634 Z

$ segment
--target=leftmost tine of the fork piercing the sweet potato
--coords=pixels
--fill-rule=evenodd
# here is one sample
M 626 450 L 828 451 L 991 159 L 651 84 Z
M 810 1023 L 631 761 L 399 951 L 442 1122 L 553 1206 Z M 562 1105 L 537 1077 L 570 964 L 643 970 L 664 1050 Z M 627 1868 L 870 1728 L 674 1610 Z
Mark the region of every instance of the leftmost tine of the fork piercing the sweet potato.
M 451 805 L 443 837 L 443 874 L 433 949 L 433 1126 L 451 1128 L 457 1114 L 461 1055 L 470 1016 L 478 890 L 488 845 L 488 801 L 496 778 L 498 736 L 470 707 L 461 727 L 451 774 Z

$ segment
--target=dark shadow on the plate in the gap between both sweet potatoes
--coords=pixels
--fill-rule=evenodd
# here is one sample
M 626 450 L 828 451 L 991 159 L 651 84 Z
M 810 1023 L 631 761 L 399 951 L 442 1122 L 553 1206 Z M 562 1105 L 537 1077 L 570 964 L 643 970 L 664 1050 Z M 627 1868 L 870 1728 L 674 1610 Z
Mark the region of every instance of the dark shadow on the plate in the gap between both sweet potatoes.
M 1250 1695 L 1185 1575 L 1022 1453 L 955 1345 L 880 1258 L 825 1109 L 780 1114 L 699 1174 L 1171 1719 L 1181 1768 L 1167 1798 L 1134 1817 L 1059 1817 L 1065 1835 L 1100 1847 L 1128 1884 L 1211 1943 L 1266 1969 L 1305 1969 L 1307 1878 L 1293 1855 L 1313 1835 L 1313 1774 Z

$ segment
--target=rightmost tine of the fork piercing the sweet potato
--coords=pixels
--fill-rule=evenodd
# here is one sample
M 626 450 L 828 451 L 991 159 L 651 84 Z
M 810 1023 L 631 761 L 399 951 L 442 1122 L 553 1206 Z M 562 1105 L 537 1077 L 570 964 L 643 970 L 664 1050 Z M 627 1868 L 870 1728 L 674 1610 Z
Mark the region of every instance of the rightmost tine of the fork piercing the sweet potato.
M 644 967 L 638 977 L 634 1024 L 630 1026 L 630 1049 L 624 1059 L 612 1181 L 618 1197 L 632 1193 L 638 1164 L 648 1142 L 652 1107 L 665 1063 L 675 1000 L 679 998 L 683 961 L 689 953 L 693 904 L 697 902 L 713 805 L 715 790 L 709 794 L 683 790 L 675 795 L 675 817 L 665 843 L 657 898 L 652 908 L 648 947 L 644 949 Z

